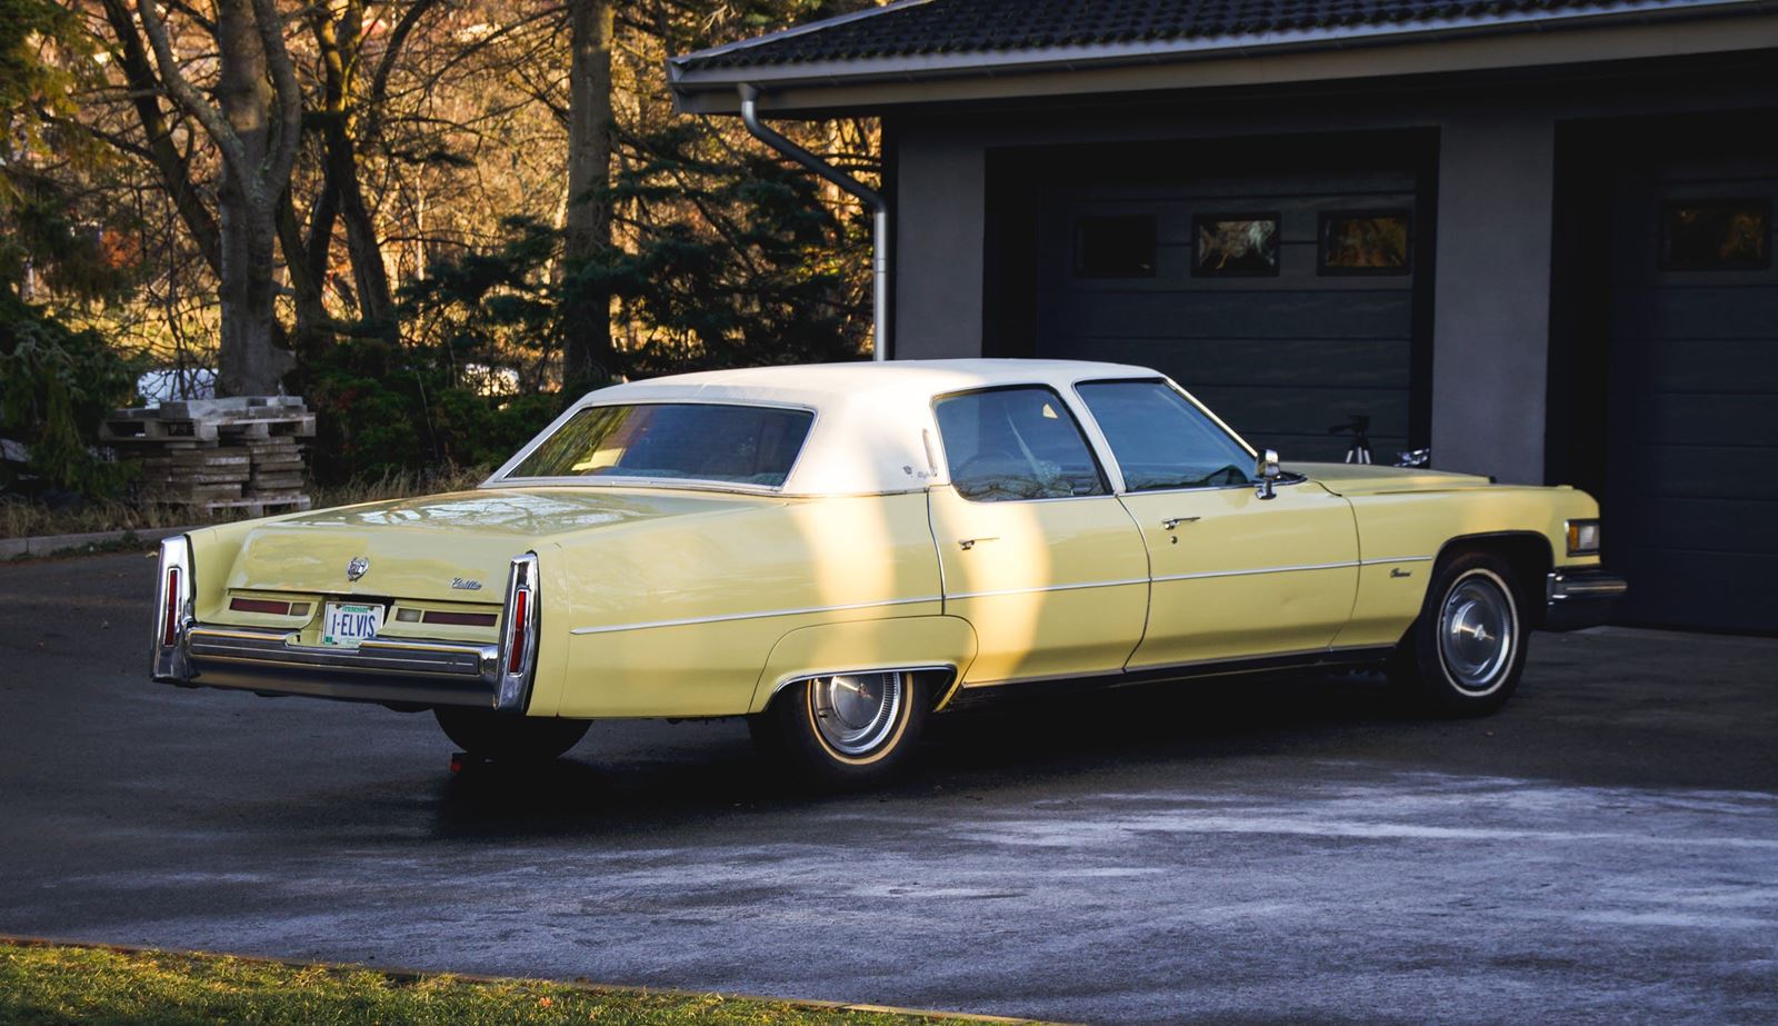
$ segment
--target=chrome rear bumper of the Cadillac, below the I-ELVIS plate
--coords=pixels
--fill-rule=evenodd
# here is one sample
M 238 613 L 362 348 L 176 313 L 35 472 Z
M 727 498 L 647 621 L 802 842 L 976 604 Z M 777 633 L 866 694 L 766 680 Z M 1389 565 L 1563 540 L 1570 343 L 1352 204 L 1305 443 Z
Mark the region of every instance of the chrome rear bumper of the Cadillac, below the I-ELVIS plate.
M 372 638 L 356 649 L 297 644 L 284 629 L 188 624 L 183 669 L 160 679 L 260 693 L 498 708 L 500 645 Z

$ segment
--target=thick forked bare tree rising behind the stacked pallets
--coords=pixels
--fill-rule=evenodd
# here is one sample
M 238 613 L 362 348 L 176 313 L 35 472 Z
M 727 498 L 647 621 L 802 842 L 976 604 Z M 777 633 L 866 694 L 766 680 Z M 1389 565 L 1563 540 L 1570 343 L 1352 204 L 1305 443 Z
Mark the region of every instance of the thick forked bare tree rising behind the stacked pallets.
M 217 0 L 215 103 L 172 50 L 153 0 L 137 0 L 165 92 L 222 155 L 217 187 L 220 381 L 224 395 L 270 395 L 293 366 L 276 340 L 277 212 L 302 135 L 302 91 L 274 0 Z

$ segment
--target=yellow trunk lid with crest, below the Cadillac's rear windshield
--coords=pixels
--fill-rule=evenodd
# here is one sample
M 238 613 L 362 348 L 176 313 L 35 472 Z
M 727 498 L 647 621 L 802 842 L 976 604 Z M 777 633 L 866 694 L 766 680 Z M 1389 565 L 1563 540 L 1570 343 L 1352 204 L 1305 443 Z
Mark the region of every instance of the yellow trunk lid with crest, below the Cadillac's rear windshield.
M 277 517 L 242 539 L 240 590 L 498 603 L 512 557 L 580 532 L 720 516 L 773 496 L 612 487 L 477 489 Z M 357 580 L 347 565 L 368 564 Z

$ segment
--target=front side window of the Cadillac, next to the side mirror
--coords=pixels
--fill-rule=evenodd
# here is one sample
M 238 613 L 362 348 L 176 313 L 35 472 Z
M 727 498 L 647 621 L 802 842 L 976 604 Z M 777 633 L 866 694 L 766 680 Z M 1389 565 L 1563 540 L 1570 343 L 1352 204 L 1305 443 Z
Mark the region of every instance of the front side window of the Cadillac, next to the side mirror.
M 1079 389 L 1129 491 L 1252 482 L 1253 457 L 1166 382 L 1101 381 Z

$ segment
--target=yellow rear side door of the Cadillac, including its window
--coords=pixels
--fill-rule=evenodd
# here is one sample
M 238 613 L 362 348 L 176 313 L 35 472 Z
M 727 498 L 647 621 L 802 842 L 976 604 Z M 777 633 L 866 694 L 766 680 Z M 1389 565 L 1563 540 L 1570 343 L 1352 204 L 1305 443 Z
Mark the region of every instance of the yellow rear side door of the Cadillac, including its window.
M 949 484 L 930 489 L 944 612 L 980 645 L 965 685 L 1118 672 L 1141 638 L 1149 558 L 1079 421 L 1049 388 L 935 402 Z

